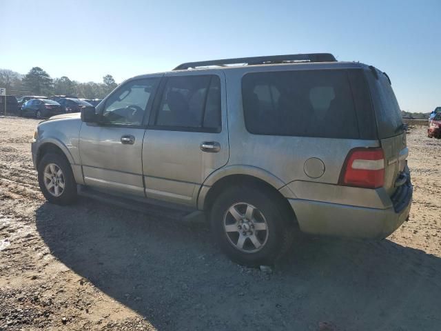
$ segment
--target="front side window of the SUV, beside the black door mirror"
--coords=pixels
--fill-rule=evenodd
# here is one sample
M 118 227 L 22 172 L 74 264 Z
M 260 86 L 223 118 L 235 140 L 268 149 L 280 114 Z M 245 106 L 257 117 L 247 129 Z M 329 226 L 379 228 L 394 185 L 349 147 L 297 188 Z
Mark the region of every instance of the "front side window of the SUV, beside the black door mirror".
M 149 101 L 156 91 L 158 77 L 129 81 L 105 101 L 103 123 L 140 126 L 148 116 Z

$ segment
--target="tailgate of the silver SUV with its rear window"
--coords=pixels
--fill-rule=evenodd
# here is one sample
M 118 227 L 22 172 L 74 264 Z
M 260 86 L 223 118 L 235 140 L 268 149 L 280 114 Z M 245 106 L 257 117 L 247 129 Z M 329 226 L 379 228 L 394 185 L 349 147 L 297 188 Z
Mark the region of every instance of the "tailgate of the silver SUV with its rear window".
M 371 67 L 367 71 L 376 113 L 378 136 L 384 151 L 384 188 L 389 195 L 396 190 L 396 181 L 404 171 L 409 150 L 398 101 L 386 74 Z

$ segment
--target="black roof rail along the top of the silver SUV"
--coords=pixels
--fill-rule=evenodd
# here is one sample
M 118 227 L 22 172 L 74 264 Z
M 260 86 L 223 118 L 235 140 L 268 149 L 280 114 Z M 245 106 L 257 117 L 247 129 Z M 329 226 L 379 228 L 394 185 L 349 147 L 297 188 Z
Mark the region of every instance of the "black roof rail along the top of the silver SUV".
M 222 59 L 212 61 L 182 63 L 173 70 L 185 70 L 189 68 L 208 66 L 227 66 L 228 64 L 247 63 L 248 66 L 256 64 L 273 64 L 284 62 L 335 62 L 334 55 L 330 53 L 271 55 L 269 57 L 239 57 L 237 59 Z

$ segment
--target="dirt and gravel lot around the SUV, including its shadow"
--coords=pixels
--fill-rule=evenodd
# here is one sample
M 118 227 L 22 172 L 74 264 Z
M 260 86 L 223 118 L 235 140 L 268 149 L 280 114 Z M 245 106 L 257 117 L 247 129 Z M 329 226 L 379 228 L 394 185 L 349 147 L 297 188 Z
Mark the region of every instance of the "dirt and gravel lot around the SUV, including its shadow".
M 199 223 L 43 199 L 37 121 L 0 117 L 0 330 L 441 330 L 441 141 L 408 134 L 411 217 L 380 242 L 300 237 L 272 274 Z

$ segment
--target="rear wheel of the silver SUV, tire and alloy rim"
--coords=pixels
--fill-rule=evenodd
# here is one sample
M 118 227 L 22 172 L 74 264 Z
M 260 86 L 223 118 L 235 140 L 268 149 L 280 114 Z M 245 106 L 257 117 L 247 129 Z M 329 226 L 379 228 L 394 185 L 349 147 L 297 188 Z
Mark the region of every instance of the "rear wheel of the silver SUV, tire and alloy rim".
M 232 213 L 232 208 L 238 214 Z M 248 208 L 252 210 L 252 217 L 247 217 Z M 278 197 L 261 185 L 240 185 L 224 190 L 210 211 L 212 232 L 220 249 L 232 261 L 249 267 L 272 265 L 289 249 L 294 237 L 294 222 L 290 217 Z M 267 230 L 262 230 L 265 227 Z M 242 249 L 238 248 L 240 245 Z

